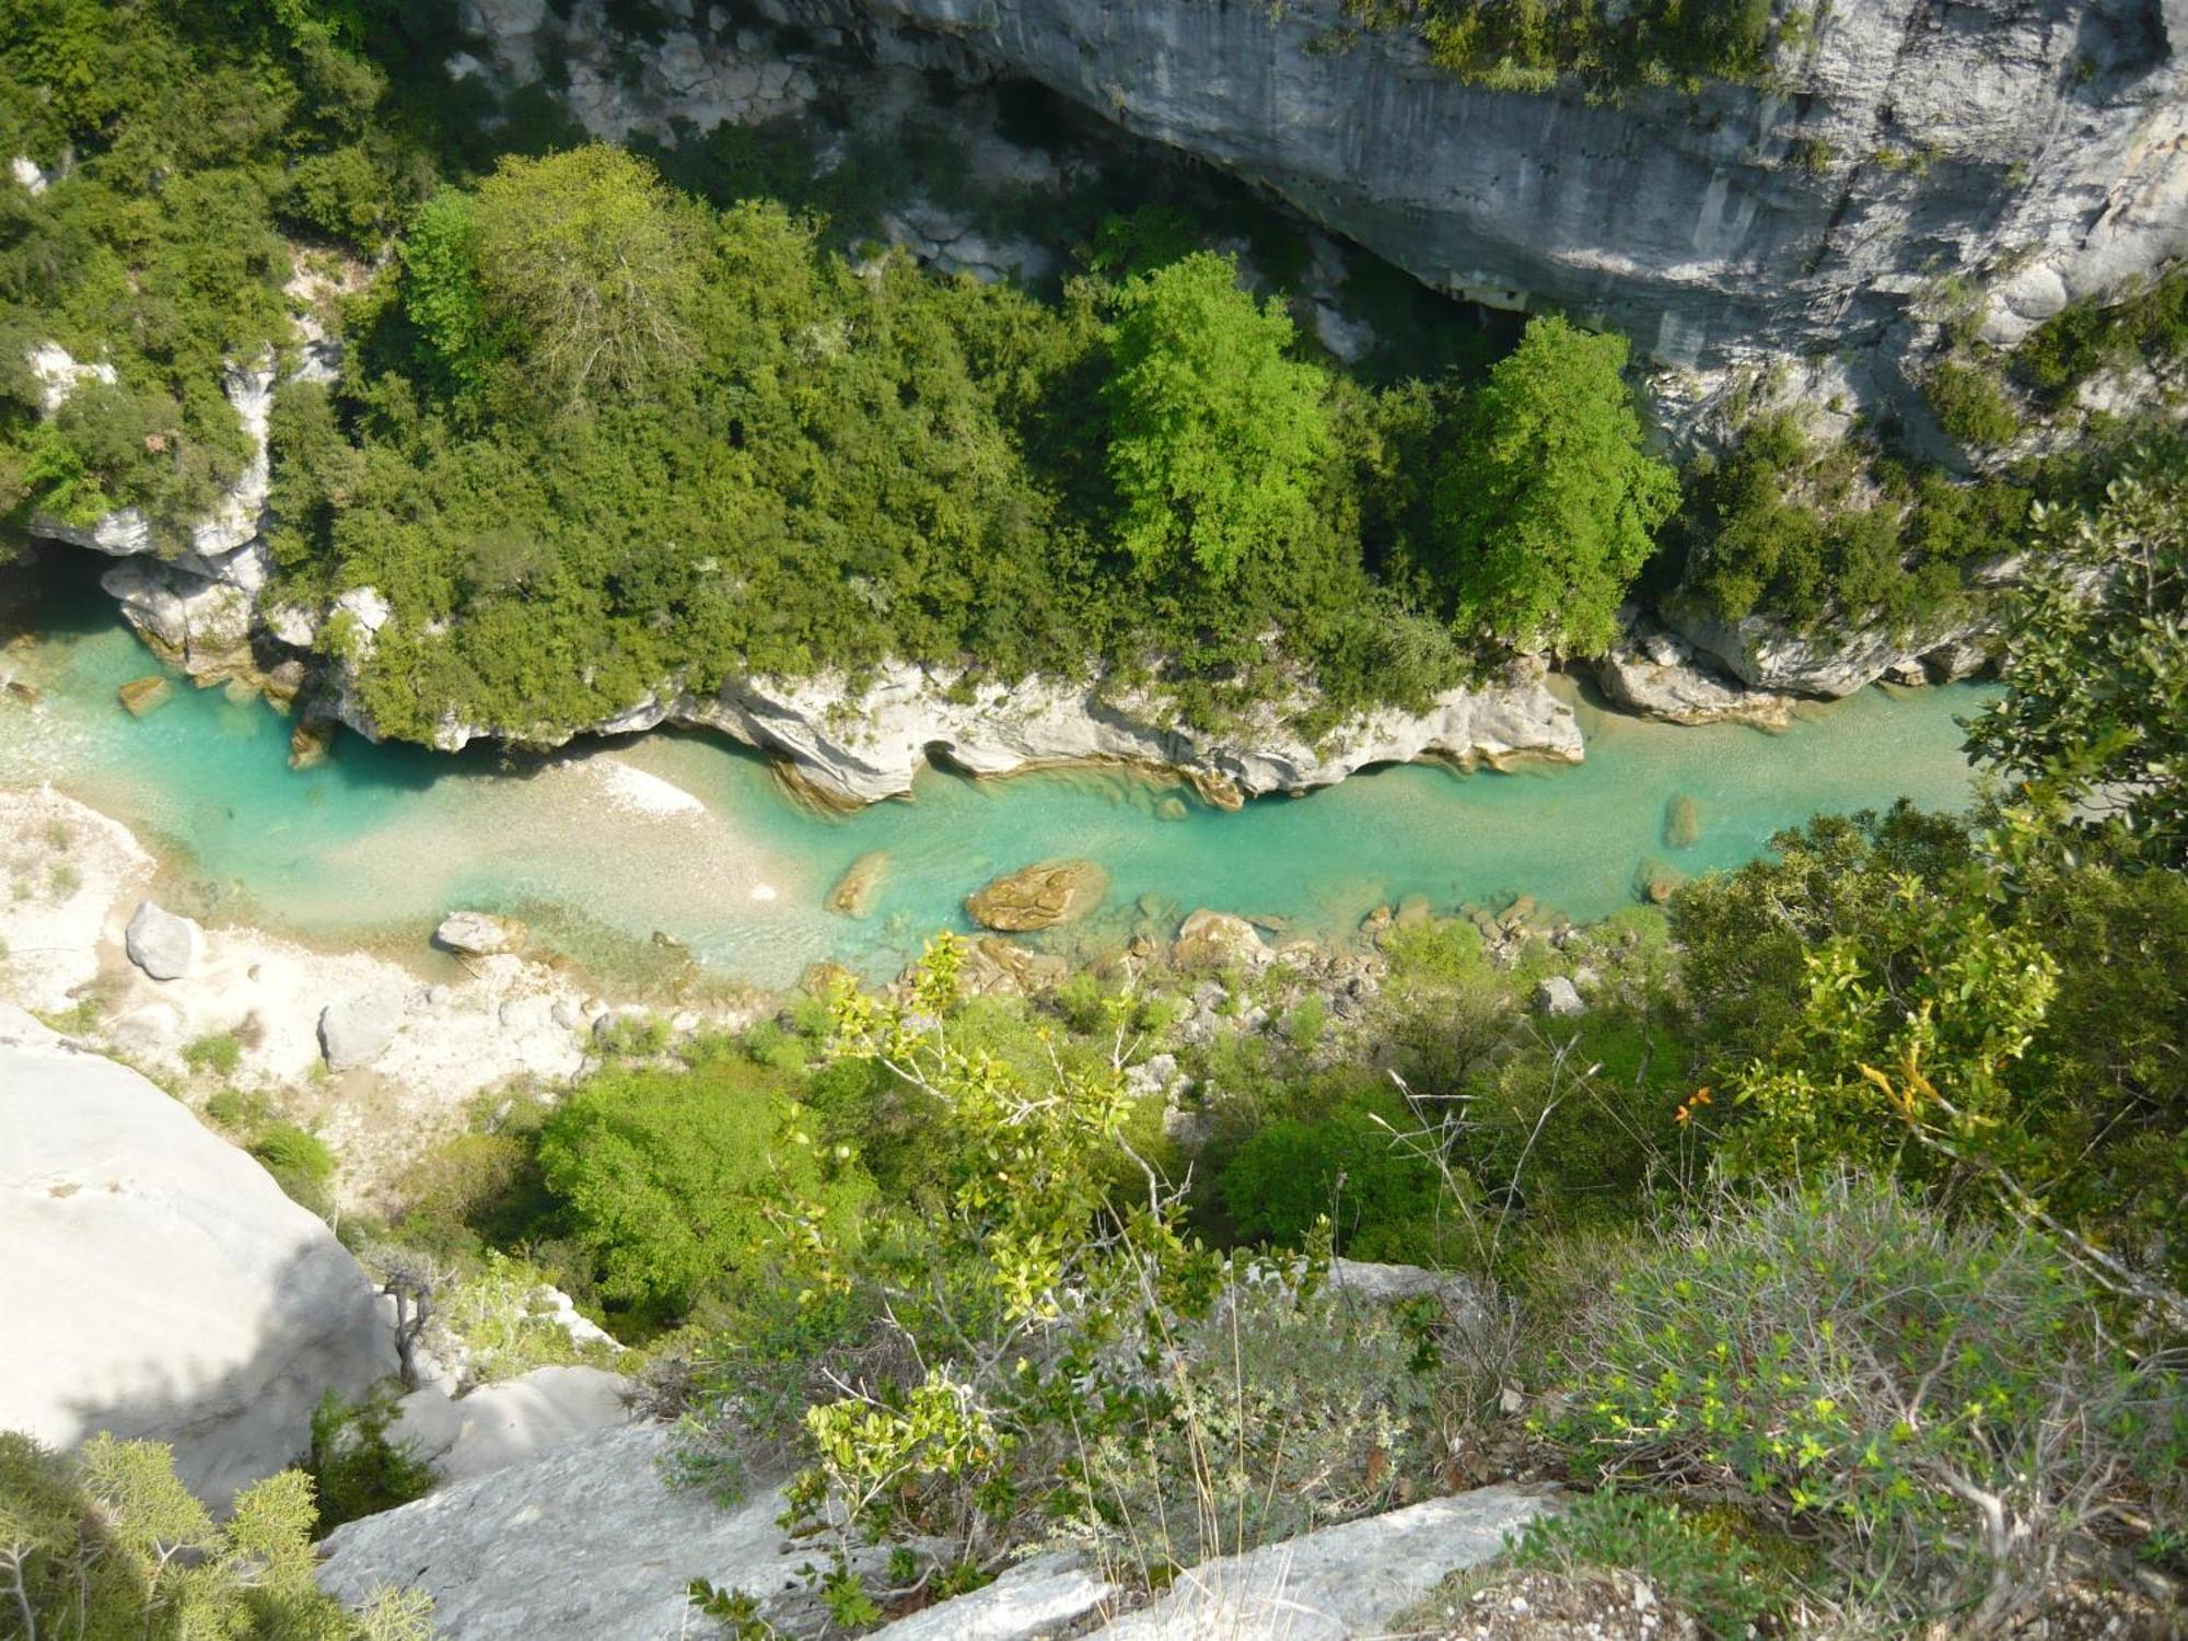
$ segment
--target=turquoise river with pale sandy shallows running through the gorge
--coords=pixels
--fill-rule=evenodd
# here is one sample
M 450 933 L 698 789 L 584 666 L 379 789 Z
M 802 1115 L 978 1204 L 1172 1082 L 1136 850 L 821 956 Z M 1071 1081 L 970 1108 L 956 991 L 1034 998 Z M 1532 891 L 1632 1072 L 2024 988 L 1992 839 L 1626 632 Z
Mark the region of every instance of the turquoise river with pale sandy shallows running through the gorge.
M 164 709 L 129 718 L 114 687 L 155 663 L 103 604 L 53 600 L 39 621 L 7 654 L 42 698 L 0 698 L 0 783 L 53 781 L 125 821 L 197 910 L 422 950 L 444 910 L 494 908 L 545 923 L 580 958 L 663 932 L 759 985 L 818 958 L 891 974 L 932 930 L 965 928 L 967 891 L 1055 856 L 1109 869 L 1109 899 L 1076 936 L 1092 941 L 1168 934 L 1195 906 L 1332 936 L 1411 895 L 1448 908 L 1525 893 L 1602 917 L 1632 901 L 1650 862 L 1731 866 L 1812 814 L 1901 794 L 1963 805 L 1954 718 L 1985 696 L 1869 689 L 1803 713 L 1785 735 L 1678 729 L 1582 700 L 1578 768 L 1387 768 L 1238 814 L 1114 770 L 1004 781 L 936 770 L 910 803 L 821 816 L 759 757 L 683 733 L 547 759 L 344 737 L 295 772 L 287 720 L 252 698 L 177 678 Z M 1700 816 L 1687 847 L 1665 836 L 1676 796 Z M 871 917 L 827 912 L 827 888 L 877 849 L 891 869 Z

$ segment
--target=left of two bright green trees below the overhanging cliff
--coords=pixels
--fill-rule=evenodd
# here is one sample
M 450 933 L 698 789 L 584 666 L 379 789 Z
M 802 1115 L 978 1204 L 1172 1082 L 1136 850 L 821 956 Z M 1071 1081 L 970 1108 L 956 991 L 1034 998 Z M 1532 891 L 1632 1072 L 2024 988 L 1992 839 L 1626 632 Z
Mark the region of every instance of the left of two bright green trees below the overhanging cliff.
M 1118 538 L 1147 569 L 1182 558 L 1227 580 L 1315 527 L 1313 470 L 1332 451 L 1324 379 L 1284 357 L 1291 319 L 1199 252 L 1133 280 L 1103 389 Z

